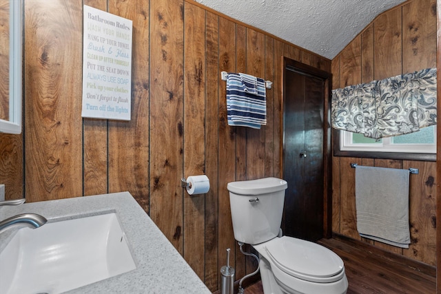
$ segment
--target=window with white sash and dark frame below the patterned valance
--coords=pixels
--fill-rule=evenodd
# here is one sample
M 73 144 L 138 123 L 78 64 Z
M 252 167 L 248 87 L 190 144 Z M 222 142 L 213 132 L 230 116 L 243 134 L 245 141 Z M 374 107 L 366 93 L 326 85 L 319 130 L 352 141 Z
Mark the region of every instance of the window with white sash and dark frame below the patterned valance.
M 436 160 L 436 127 L 375 140 L 363 134 L 334 132 L 334 155 L 407 160 Z M 336 144 L 337 141 L 337 144 Z

